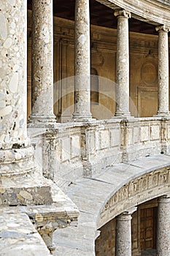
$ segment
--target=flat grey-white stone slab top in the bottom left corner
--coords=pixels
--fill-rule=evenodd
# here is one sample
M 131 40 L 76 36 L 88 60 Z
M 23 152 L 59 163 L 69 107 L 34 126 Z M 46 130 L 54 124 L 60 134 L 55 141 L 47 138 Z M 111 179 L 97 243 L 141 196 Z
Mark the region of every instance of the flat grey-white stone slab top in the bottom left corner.
M 1 256 L 50 255 L 42 237 L 26 214 L 0 214 Z

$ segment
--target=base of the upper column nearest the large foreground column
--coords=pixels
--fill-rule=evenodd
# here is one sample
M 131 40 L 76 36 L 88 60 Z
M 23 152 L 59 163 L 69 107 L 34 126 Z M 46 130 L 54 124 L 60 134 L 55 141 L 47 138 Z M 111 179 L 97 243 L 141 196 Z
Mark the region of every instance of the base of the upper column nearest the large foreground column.
M 55 115 L 31 115 L 28 127 L 36 127 L 36 128 L 53 128 L 56 124 Z

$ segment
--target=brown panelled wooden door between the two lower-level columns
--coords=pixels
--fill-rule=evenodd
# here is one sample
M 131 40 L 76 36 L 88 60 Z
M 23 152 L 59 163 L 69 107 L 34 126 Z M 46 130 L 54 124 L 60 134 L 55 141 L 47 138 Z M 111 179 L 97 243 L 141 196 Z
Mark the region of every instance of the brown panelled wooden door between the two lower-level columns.
M 140 246 L 141 251 L 156 248 L 157 207 L 144 208 L 140 211 Z

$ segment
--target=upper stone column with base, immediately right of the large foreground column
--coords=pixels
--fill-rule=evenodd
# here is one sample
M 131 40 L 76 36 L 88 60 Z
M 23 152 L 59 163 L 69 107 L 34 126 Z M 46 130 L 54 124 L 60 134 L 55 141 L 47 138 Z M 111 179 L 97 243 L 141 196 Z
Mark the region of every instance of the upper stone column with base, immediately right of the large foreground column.
M 53 114 L 53 0 L 32 1 L 32 113 L 30 123 L 48 126 Z

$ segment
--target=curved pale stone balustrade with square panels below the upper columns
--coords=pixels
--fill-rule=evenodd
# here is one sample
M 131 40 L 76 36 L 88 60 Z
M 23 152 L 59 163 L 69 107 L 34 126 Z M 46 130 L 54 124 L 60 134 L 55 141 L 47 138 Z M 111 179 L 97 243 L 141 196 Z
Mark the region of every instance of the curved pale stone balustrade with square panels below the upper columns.
M 29 129 L 47 178 L 60 182 L 93 176 L 107 166 L 169 151 L 168 118 L 109 119 Z

